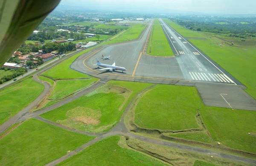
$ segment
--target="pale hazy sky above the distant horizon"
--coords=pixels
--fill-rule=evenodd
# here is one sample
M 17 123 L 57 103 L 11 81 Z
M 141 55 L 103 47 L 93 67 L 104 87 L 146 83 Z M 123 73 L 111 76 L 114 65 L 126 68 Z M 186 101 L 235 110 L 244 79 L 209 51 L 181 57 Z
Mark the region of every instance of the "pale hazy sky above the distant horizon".
M 115 11 L 194 11 L 212 14 L 256 14 L 256 0 L 62 0 L 61 4 Z

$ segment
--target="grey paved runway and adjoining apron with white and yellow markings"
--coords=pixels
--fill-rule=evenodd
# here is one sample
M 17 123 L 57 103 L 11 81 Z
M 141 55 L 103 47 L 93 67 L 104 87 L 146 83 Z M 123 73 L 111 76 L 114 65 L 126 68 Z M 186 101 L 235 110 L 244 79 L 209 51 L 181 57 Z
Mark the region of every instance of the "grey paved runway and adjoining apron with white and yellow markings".
M 171 57 L 143 54 L 151 21 L 137 40 L 93 49 L 78 57 L 70 67 L 101 79 L 196 86 L 207 106 L 256 111 L 256 100 L 244 92 L 246 87 L 242 83 L 163 20 L 160 19 L 160 23 L 174 52 Z M 111 59 L 102 60 L 102 54 Z M 96 57 L 101 63 L 112 65 L 115 62 L 127 71 L 102 72 L 94 66 Z

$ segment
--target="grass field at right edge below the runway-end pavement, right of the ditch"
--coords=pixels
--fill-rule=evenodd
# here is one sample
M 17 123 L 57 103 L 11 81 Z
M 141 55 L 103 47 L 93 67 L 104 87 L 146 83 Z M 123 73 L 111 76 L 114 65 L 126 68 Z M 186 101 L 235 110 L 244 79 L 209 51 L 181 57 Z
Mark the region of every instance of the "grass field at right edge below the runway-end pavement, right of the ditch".
M 256 153 L 256 112 L 204 106 L 201 115 L 212 138 L 225 146 Z

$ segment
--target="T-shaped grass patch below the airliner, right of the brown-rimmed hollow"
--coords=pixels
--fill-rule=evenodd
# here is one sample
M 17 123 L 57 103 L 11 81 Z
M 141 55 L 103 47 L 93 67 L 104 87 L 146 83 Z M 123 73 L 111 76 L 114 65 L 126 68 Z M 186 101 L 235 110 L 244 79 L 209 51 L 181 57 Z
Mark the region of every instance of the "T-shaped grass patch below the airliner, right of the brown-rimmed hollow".
M 128 81 L 116 81 L 116 80 L 108 81 L 107 84 L 122 86 L 122 87 L 132 91 L 131 95 L 129 96 L 128 100 L 126 101 L 125 105 L 123 106 L 122 111 L 125 110 L 125 108 L 128 106 L 132 97 L 134 97 L 135 94 L 142 91 L 143 89 L 146 89 L 146 88 L 154 85 L 152 83 L 137 83 L 137 82 L 128 82 Z

